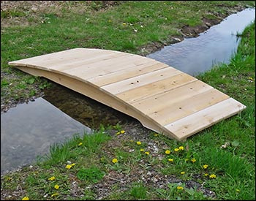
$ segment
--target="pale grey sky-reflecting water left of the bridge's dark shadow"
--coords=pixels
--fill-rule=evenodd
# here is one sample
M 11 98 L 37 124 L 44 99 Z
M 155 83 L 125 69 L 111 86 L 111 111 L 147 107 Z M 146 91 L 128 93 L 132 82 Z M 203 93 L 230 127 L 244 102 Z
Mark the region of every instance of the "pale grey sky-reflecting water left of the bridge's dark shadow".
M 1 113 L 1 172 L 29 164 L 48 153 L 50 144 L 83 132 L 91 129 L 42 98 Z

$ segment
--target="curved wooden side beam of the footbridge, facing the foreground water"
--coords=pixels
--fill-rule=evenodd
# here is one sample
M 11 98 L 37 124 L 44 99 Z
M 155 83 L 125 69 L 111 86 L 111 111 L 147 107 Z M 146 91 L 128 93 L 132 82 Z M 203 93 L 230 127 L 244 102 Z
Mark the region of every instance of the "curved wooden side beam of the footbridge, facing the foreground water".
M 148 118 L 145 114 L 141 113 L 140 110 L 137 110 L 135 107 L 128 105 L 126 102 L 118 99 L 116 96 L 109 95 L 108 91 L 102 91 L 97 86 L 93 86 L 91 83 L 88 83 L 85 80 L 82 81 L 78 77 L 69 77 L 57 72 L 50 72 L 39 69 L 39 67 L 29 67 L 28 65 L 24 67 L 17 66 L 16 68 L 34 76 L 46 77 L 55 83 L 66 86 L 73 91 L 77 91 L 80 94 L 89 96 L 91 99 L 95 99 L 104 105 L 108 105 L 115 110 L 121 111 L 122 113 L 136 118 L 138 121 L 140 121 L 141 124 L 143 124 L 143 126 L 153 130 L 154 132 L 163 133 L 167 137 L 180 140 L 174 134 L 168 132 L 167 129 L 161 129 L 161 126 L 159 126 L 157 122 L 154 122 L 154 120 Z

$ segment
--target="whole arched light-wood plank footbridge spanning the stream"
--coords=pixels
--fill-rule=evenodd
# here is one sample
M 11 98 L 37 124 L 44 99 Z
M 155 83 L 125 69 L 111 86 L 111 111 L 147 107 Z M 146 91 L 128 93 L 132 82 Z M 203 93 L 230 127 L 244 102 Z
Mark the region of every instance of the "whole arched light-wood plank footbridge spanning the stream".
M 96 99 L 176 140 L 186 140 L 246 108 L 195 77 L 130 53 L 75 48 L 9 64 Z

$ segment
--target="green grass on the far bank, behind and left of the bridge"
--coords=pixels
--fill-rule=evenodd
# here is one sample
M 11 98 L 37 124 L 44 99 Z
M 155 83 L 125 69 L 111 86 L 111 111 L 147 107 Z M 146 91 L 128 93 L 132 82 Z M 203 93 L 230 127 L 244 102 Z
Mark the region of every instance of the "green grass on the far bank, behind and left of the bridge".
M 104 48 L 146 55 L 151 52 L 145 48 L 148 45 L 161 46 L 170 43 L 172 37 L 181 37 L 182 26 L 201 25 L 203 18 L 214 18 L 214 12 L 226 16 L 234 6 L 253 6 L 255 2 L 121 1 L 116 7 L 99 10 L 104 4 L 75 1 L 42 12 L 1 11 L 4 19 L 23 17 L 20 24 L 1 28 L 3 84 L 12 83 L 8 88 L 1 84 L 3 102 L 29 99 L 39 94 L 40 88 L 47 87 L 44 79 L 37 79 L 33 85 L 27 83 L 31 76 L 9 67 L 8 61 L 71 48 Z M 29 26 L 24 26 L 23 20 Z

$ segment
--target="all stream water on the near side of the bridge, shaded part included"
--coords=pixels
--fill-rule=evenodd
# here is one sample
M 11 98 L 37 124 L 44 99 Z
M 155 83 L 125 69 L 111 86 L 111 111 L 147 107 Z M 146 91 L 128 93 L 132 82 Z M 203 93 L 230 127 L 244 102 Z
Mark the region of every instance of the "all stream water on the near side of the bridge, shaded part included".
M 45 96 L 1 113 L 1 173 L 31 164 L 73 134 L 135 121 L 75 91 L 53 84 Z

